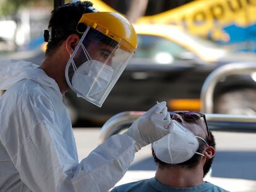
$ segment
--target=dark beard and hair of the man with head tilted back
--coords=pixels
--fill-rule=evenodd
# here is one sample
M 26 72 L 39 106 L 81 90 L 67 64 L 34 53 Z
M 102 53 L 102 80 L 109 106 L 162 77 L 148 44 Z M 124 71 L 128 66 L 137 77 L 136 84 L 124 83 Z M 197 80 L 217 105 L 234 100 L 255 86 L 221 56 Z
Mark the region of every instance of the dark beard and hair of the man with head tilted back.
M 207 139 L 207 138 L 204 138 L 204 139 L 205 139 L 205 141 L 207 141 L 209 146 L 212 146 L 213 148 L 215 148 L 215 146 L 216 146 L 215 137 L 213 136 L 213 133 L 211 133 L 211 131 L 209 131 L 209 133 L 210 133 L 210 139 Z M 198 140 L 198 141 L 199 141 L 199 147 L 198 147 L 197 152 L 202 152 L 203 149 L 205 148 L 206 144 L 202 140 Z M 185 168 L 185 169 L 194 169 L 195 167 L 197 167 L 197 165 L 199 164 L 200 159 L 202 157 L 199 154 L 194 154 L 194 156 L 191 157 L 189 160 L 182 162 L 180 164 L 167 164 L 155 156 L 155 152 L 154 152 L 153 148 L 152 148 L 152 154 L 153 154 L 153 159 L 154 159 L 156 165 L 158 165 L 158 167 L 160 169 L 166 169 L 169 167 L 177 167 L 177 166 Z M 211 164 L 213 163 L 213 159 L 214 159 L 214 157 L 211 159 L 207 159 L 207 161 L 205 162 L 205 165 L 203 166 L 203 177 L 205 177 L 205 175 L 207 175 L 207 173 L 209 172 L 209 170 L 211 168 Z

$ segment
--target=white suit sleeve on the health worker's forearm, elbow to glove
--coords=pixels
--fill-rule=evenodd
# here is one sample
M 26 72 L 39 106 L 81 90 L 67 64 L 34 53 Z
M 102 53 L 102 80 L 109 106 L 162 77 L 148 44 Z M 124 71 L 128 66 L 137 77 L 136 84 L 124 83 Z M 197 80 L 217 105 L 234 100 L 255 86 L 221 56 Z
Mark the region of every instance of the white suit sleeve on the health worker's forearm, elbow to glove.
M 114 135 L 83 159 L 75 171 L 75 191 L 108 191 L 134 160 L 135 141 Z

